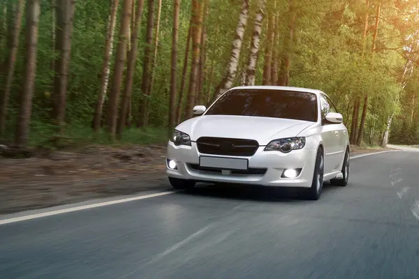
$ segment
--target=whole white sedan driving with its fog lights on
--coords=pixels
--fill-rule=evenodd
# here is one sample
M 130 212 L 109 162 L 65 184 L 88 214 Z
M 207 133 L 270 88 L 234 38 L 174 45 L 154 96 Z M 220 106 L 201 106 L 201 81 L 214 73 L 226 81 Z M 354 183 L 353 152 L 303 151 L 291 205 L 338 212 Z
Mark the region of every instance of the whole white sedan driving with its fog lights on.
M 348 130 L 319 90 L 242 86 L 175 128 L 166 155 L 174 188 L 197 182 L 300 188 L 318 199 L 323 181 L 346 186 Z

